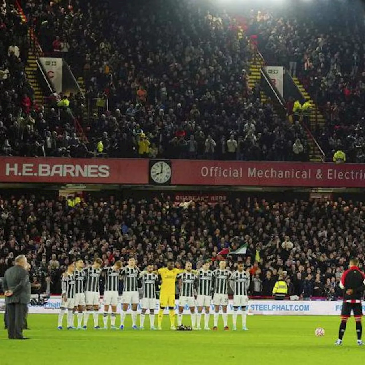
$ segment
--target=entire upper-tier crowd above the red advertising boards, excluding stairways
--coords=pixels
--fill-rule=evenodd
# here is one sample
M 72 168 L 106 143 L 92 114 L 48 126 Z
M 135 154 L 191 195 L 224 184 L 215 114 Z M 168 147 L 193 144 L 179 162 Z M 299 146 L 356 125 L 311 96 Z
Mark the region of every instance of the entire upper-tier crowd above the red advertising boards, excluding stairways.
M 307 161 L 303 126 L 279 117 L 260 85 L 248 85 L 247 31 L 258 36 L 264 58 L 287 66 L 320 108 L 326 122 L 312 133 L 326 156 L 343 150 L 346 161 L 365 161 L 358 4 L 262 8 L 233 18 L 190 0 L 127 2 L 117 10 L 107 1 L 23 0 L 22 24 L 2 1 L 2 154 Z M 70 96 L 84 132 L 57 107 L 33 103 L 24 76 L 28 28 L 47 55 L 64 57 L 84 78 L 86 99 Z M 108 110 L 94 99 L 108 99 Z

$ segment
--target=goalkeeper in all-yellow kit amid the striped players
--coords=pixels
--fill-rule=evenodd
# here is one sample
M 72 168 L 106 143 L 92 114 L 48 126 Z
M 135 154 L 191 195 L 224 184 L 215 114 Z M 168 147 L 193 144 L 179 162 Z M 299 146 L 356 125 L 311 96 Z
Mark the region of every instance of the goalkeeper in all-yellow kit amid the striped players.
M 165 268 L 160 268 L 157 273 L 161 276 L 160 288 L 160 310 L 157 316 L 157 329 L 162 330 L 162 316 L 164 310 L 169 307 L 170 330 L 176 330 L 175 327 L 175 283 L 176 276 L 184 270 L 174 268 L 174 262 L 169 260 Z

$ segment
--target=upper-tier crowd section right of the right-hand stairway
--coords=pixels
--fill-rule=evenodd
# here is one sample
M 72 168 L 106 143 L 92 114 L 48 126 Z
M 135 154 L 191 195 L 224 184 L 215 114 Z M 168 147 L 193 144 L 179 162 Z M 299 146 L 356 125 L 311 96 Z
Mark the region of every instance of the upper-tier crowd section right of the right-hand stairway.
M 313 132 L 329 160 L 343 150 L 365 162 L 364 11 L 361 1 L 318 1 L 251 12 L 249 33 L 266 61 L 299 77 L 324 115 Z

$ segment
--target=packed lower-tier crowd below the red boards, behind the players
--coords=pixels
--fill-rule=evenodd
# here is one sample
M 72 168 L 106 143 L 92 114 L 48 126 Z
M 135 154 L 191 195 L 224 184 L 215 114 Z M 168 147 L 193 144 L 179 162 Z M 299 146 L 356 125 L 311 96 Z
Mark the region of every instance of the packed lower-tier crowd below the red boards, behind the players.
M 34 287 L 58 293 L 59 277 L 76 258 L 90 264 L 126 264 L 133 255 L 140 268 L 167 259 L 199 268 L 218 264 L 219 252 L 247 244 L 245 255 L 226 256 L 234 268 L 243 261 L 252 276 L 250 293 L 268 296 L 278 278 L 288 295 L 310 299 L 341 295 L 341 274 L 352 255 L 364 262 L 361 202 L 232 199 L 175 203 L 160 195 L 141 200 L 92 195 L 3 196 L 0 200 L 0 277 L 19 254 L 32 265 Z M 40 289 L 39 289 L 40 287 Z

